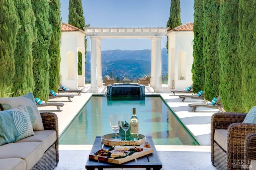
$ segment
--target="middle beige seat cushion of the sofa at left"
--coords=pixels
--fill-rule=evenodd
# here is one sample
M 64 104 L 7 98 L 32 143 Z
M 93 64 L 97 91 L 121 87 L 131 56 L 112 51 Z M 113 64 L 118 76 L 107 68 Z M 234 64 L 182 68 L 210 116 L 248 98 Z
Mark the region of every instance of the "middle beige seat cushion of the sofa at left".
M 18 142 L 0 146 L 0 159 L 21 158 L 26 161 L 26 170 L 30 170 L 43 154 L 42 142 Z

